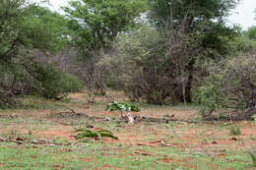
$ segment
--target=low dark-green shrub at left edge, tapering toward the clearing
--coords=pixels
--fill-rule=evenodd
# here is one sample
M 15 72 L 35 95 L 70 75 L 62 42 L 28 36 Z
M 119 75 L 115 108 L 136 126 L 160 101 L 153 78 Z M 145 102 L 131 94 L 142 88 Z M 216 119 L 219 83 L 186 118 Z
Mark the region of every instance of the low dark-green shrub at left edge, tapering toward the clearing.
M 62 99 L 68 92 L 79 91 L 83 87 L 78 78 L 57 70 L 52 64 L 20 63 L 0 63 L 1 108 L 17 106 L 16 96 L 20 94 Z

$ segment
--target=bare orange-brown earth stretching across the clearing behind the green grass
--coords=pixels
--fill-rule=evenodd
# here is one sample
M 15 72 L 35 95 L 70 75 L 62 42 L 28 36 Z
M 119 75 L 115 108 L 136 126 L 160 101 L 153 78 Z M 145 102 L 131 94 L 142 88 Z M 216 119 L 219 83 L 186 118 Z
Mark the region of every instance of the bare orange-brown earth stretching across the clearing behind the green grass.
M 123 99 L 122 93 L 115 92 L 112 96 L 116 96 L 115 100 Z M 256 148 L 256 125 L 253 122 L 210 122 L 210 123 L 185 123 L 183 121 L 194 120 L 198 118 L 197 110 L 185 108 L 173 108 L 170 106 L 158 107 L 144 107 L 142 112 L 133 112 L 133 116 L 141 115 L 153 118 L 170 117 L 173 120 L 180 120 L 179 122 L 168 123 L 148 123 L 139 122 L 135 125 L 129 126 L 125 123 L 118 124 L 111 122 L 112 120 L 101 122 L 97 120 L 88 119 L 88 116 L 97 116 L 102 118 L 120 118 L 119 112 L 106 112 L 104 110 L 105 104 L 108 102 L 107 97 L 96 97 L 96 102 L 101 104 L 89 105 L 87 104 L 87 94 L 85 92 L 73 93 L 70 95 L 72 100 L 79 102 L 63 103 L 65 107 L 55 110 L 52 109 L 38 109 L 38 110 L 17 110 L 12 112 L 1 112 L 6 121 L 0 123 L 0 133 L 8 132 L 10 136 L 19 137 L 21 134 L 37 138 L 46 139 L 65 139 L 69 142 L 75 142 L 74 135 L 75 128 L 80 126 L 92 125 L 92 130 L 98 131 L 107 129 L 113 132 L 114 136 L 118 137 L 118 141 L 102 138 L 100 141 L 109 145 L 126 145 L 128 148 L 148 146 L 150 148 L 177 148 L 190 149 L 194 151 L 202 151 L 205 154 L 213 157 L 223 157 L 227 155 L 226 150 L 240 151 L 248 148 Z M 119 100 L 122 101 L 122 100 Z M 103 102 L 103 103 L 102 103 Z M 70 109 L 69 109 L 70 108 Z M 76 113 L 62 114 L 63 112 L 70 112 L 73 109 Z M 62 113 L 61 113 L 62 112 Z M 71 111 L 72 112 L 72 111 Z M 61 114 L 60 114 L 61 113 Z M 7 116 L 5 116 L 7 115 Z M 8 115 L 15 115 L 9 117 Z M 74 117 L 75 116 L 75 117 Z M 230 136 L 229 128 L 231 125 L 240 127 L 240 136 Z M 13 132 L 16 130 L 16 132 Z M 115 149 L 116 152 L 124 152 L 122 156 L 151 156 L 156 157 L 161 163 L 179 164 L 187 169 L 197 169 L 196 165 L 191 164 L 193 157 L 169 157 L 164 154 L 150 152 L 145 150 L 122 150 Z M 126 153 L 131 151 L 132 153 Z M 161 157 L 161 158 L 160 158 Z M 96 162 L 95 157 L 83 157 L 79 159 L 81 162 L 90 163 Z M 181 164 L 180 164 L 181 163 Z M 1 166 L 6 164 L 1 163 Z M 220 169 L 219 165 L 209 165 L 210 169 Z M 62 169 L 62 165 L 55 165 L 53 169 Z M 97 169 L 120 169 L 118 167 L 104 164 Z

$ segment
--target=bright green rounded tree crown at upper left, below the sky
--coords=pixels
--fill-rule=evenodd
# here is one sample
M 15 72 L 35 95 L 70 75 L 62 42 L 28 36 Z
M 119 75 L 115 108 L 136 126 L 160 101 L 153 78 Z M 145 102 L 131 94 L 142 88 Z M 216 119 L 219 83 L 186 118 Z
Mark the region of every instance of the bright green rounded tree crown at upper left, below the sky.
M 57 52 L 68 40 L 69 30 L 65 17 L 45 7 L 32 6 L 21 28 L 33 48 L 44 51 Z

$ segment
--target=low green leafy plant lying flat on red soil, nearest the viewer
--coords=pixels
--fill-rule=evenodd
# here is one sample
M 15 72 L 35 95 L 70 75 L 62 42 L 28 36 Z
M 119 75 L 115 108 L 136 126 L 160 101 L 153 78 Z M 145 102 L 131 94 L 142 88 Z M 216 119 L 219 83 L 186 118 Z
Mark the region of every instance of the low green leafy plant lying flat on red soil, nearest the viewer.
M 88 129 L 78 129 L 76 131 L 79 132 L 79 134 L 75 136 L 76 140 L 81 140 L 85 138 L 93 138 L 98 140 L 101 137 L 107 137 L 110 139 L 118 140 L 118 138 L 115 137 L 113 133 L 107 130 L 91 131 Z

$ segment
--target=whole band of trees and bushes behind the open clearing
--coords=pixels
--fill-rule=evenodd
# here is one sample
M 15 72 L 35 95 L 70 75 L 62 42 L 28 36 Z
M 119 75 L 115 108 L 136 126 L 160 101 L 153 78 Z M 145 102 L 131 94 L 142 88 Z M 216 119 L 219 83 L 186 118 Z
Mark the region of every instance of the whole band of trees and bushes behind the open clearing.
M 64 14 L 0 2 L 0 107 L 18 95 L 62 99 L 84 86 L 133 101 L 256 112 L 256 28 L 227 27 L 238 0 L 72 0 Z

